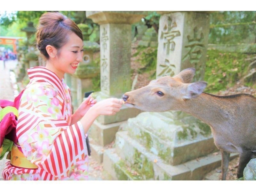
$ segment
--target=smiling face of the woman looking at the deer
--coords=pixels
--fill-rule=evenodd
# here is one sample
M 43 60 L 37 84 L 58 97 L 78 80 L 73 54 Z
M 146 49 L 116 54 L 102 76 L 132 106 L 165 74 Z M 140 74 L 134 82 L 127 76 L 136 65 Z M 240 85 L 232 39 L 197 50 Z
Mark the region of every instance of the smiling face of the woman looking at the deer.
M 60 79 L 65 73 L 75 73 L 76 68 L 83 60 L 83 41 L 75 33 L 68 35 L 68 42 L 64 44 L 59 50 L 54 59 L 54 71 Z

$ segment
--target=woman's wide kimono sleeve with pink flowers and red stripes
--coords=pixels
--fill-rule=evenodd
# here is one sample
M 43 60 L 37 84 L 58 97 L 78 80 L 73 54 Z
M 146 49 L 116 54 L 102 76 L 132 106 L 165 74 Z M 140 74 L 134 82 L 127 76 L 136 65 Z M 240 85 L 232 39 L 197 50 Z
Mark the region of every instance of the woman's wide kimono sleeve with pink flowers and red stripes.
M 16 133 L 23 154 L 41 177 L 53 180 L 87 175 L 84 129 L 80 121 L 68 125 L 64 104 L 53 86 L 35 83 L 24 91 L 19 108 Z

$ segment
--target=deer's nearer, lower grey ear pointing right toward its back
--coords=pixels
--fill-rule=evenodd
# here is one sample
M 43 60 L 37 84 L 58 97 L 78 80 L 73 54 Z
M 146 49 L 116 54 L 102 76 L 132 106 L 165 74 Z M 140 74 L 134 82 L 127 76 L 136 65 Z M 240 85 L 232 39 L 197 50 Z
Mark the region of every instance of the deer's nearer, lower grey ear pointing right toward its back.
M 184 99 L 190 99 L 199 96 L 203 93 L 204 88 L 207 86 L 205 81 L 194 82 L 188 85 L 187 91 L 183 96 Z

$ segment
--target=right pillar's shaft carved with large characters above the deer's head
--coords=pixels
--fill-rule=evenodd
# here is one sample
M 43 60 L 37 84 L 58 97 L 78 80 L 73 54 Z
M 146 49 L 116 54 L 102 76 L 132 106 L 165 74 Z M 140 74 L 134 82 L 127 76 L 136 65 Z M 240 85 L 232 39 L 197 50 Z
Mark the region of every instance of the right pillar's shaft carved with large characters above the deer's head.
M 160 12 L 156 78 L 196 68 L 195 81 L 204 80 L 209 34 L 205 12 Z

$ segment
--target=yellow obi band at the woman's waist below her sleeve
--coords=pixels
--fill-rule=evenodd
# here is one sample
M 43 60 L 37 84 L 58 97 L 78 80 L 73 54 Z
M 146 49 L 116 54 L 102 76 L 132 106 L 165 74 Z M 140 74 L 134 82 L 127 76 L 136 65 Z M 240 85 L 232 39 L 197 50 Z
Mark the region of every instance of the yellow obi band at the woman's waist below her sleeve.
M 30 168 L 37 169 L 38 167 L 35 164 L 29 162 L 29 160 L 23 155 L 22 152 L 18 149 L 16 145 L 12 146 L 11 151 L 11 164 L 20 168 Z

